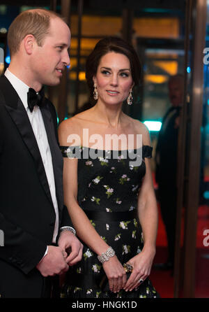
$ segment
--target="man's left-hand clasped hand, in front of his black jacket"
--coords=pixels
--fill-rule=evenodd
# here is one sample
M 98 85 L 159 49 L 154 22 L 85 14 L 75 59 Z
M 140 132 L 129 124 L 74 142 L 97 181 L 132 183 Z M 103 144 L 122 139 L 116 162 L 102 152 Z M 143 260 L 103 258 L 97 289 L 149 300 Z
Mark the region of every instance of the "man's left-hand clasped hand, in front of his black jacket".
M 69 269 L 66 257 L 67 254 L 60 247 L 48 246 L 47 255 L 42 258 L 36 268 L 45 277 L 63 274 Z

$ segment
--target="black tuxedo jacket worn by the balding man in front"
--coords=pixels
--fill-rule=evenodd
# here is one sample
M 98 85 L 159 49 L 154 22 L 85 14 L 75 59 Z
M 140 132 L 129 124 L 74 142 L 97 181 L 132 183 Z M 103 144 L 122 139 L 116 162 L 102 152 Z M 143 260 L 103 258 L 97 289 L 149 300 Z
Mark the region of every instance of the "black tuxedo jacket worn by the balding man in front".
M 63 159 L 56 111 L 41 108 L 52 153 L 60 227 L 70 225 L 63 206 Z M 41 297 L 45 278 L 36 264 L 52 245 L 55 212 L 42 158 L 22 101 L 8 79 L 0 78 L 0 297 Z

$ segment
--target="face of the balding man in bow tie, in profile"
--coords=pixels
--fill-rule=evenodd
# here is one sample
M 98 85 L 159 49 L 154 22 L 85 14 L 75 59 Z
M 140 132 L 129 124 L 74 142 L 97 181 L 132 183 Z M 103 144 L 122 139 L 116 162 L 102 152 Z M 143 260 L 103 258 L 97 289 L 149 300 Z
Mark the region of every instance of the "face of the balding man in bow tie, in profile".
M 59 17 L 51 19 L 49 35 L 42 46 L 36 45 L 31 59 L 33 83 L 38 85 L 58 85 L 63 69 L 70 64 L 70 29 Z

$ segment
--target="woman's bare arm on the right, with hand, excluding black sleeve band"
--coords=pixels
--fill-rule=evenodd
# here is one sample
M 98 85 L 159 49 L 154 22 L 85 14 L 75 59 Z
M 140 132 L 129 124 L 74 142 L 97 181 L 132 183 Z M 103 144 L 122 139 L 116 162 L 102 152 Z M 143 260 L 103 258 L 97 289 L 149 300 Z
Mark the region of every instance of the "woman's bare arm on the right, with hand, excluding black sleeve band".
M 150 136 L 147 129 L 144 129 L 143 144 L 150 146 Z M 144 239 L 144 248 L 141 253 L 130 259 L 129 263 L 134 267 L 133 272 L 125 285 L 125 290 L 137 288 L 140 283 L 150 274 L 150 269 L 155 257 L 155 241 L 157 236 L 157 201 L 153 187 L 150 159 L 144 159 L 146 174 L 144 176 L 138 199 L 139 222 Z

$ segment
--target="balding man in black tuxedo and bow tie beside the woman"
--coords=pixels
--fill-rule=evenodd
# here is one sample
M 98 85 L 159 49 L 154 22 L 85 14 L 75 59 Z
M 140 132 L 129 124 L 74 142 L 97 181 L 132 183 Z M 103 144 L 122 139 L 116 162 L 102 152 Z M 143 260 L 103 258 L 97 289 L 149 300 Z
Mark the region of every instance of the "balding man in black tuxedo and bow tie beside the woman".
M 63 206 L 56 111 L 42 94 L 70 64 L 70 29 L 51 11 L 28 10 L 10 25 L 8 45 L 0 78 L 0 297 L 49 297 L 53 276 L 82 258 Z

